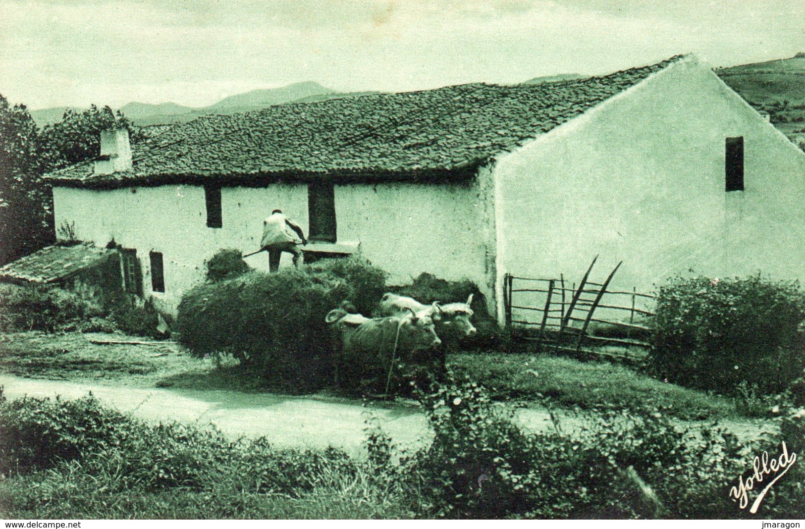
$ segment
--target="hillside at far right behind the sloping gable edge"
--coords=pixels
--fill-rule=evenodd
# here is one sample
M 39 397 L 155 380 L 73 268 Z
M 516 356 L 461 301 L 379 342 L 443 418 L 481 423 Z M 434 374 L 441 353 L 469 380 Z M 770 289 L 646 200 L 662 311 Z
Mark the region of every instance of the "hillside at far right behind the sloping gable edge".
M 805 147 L 805 53 L 718 68 L 716 73 L 755 109 L 769 114 L 791 141 Z

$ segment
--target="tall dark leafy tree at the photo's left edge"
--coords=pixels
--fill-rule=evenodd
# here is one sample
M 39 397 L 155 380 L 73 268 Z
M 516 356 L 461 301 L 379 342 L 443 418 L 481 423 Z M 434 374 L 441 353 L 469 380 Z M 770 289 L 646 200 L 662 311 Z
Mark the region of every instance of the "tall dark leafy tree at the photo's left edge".
M 53 240 L 52 192 L 42 180 L 37 129 L 25 105 L 0 94 L 0 263 Z

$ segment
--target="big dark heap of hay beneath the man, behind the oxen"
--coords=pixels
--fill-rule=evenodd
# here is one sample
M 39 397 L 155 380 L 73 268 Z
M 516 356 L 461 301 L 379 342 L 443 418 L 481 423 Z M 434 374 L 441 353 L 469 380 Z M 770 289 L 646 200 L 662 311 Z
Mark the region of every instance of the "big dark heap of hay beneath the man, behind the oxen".
M 195 357 L 231 355 L 283 389 L 312 391 L 332 381 L 324 316 L 344 300 L 376 303 L 385 279 L 357 258 L 253 271 L 188 291 L 175 329 Z

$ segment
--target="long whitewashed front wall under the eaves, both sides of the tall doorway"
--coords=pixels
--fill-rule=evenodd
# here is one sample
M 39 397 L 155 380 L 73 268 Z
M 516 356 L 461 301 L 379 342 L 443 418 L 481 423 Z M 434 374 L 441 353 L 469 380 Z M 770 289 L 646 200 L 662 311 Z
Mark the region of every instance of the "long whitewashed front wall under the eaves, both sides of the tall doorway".
M 485 265 L 484 209 L 476 184 L 336 185 L 338 242 L 360 242 L 361 253 L 389 271 L 390 283 L 410 283 L 431 272 L 445 279 L 467 277 L 491 294 Z M 221 248 L 258 249 L 262 219 L 283 209 L 308 234 L 308 186 L 222 188 L 223 226 L 208 228 L 204 188 L 189 185 L 96 191 L 54 188 L 56 225 L 75 222 L 76 237 L 105 246 L 110 240 L 135 248 L 143 290 L 172 310 L 182 292 L 204 280 L 204 261 Z M 163 254 L 165 292 L 151 292 L 148 254 Z M 268 269 L 266 253 L 247 258 Z M 290 266 L 283 254 L 281 266 Z M 491 299 L 491 295 L 489 296 Z

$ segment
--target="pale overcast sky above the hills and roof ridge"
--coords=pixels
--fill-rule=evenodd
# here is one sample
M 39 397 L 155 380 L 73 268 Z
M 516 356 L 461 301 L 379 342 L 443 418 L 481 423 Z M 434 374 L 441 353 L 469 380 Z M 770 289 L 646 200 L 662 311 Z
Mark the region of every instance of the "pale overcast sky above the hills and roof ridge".
M 209 105 L 316 81 L 403 91 L 805 51 L 803 0 L 0 0 L 0 93 Z

